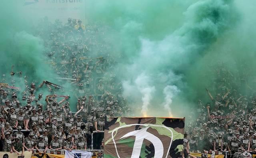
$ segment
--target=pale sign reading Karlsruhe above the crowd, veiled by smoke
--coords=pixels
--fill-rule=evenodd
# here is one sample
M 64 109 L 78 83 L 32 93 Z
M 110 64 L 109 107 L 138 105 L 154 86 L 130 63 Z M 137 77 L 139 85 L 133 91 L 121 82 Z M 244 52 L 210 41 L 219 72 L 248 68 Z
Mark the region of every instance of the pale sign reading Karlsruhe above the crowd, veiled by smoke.
M 17 3 L 24 19 L 32 17 L 37 21 L 47 16 L 52 22 L 60 19 L 65 24 L 68 18 L 75 18 L 85 24 L 85 0 L 19 0 Z

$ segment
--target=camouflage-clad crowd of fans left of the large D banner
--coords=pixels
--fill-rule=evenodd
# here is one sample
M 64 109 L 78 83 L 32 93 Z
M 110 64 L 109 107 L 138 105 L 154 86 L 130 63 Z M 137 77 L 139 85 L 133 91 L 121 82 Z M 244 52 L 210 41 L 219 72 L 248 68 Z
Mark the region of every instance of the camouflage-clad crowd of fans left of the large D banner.
M 99 131 L 104 118 L 128 115 L 130 108 L 116 78 L 115 58 L 107 53 L 108 43 L 99 38 L 104 28 L 98 26 L 85 27 L 81 20 L 71 18 L 66 24 L 58 19 L 54 23 L 42 20 L 33 34 L 44 40 L 45 63 L 62 78 L 49 84 L 13 69 L 10 75 L 2 75 L 0 151 L 18 154 L 34 149 L 40 153 L 91 149 L 92 131 L 98 131 L 93 148 L 103 148 L 103 133 Z M 70 84 L 71 88 L 67 92 L 55 84 Z M 70 110 L 67 93 L 76 97 L 77 103 L 72 105 L 75 112 Z M 98 157 L 102 157 L 101 152 Z

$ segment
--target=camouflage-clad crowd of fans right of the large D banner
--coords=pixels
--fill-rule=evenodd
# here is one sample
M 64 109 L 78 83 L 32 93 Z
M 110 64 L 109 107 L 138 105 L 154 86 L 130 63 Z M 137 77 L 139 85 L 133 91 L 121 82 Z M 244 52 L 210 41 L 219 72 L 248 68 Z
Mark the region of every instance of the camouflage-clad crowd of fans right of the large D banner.
M 235 81 L 236 78 L 223 67 L 218 69 L 216 76 L 212 91 L 217 94 L 213 95 L 206 88 L 210 102 L 199 100 L 197 113 L 192 114 L 198 117 L 194 122 L 186 122 L 185 157 L 189 157 L 190 152 L 221 154 L 227 151 L 242 158 L 256 152 L 256 95 L 241 94 L 251 91 L 250 86 L 244 79 Z M 232 86 L 237 89 L 228 88 Z

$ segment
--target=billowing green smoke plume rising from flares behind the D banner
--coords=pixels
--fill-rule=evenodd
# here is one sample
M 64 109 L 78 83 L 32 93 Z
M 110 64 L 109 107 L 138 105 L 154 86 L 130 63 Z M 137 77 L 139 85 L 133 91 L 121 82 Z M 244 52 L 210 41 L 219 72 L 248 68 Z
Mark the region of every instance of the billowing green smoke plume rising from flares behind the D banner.
M 199 73 L 190 68 L 200 65 L 208 49 L 240 19 L 236 4 L 225 0 L 119 1 L 93 6 L 88 15 L 116 30 L 110 37 L 116 38 L 114 48 L 123 55 L 118 76 L 124 95 L 134 108 L 142 107 L 142 113 L 146 104 L 153 111 L 150 115 L 168 115 L 164 111 L 194 106 L 191 101 L 205 96 L 197 91 L 204 91 L 207 84 L 198 85 Z M 200 71 L 204 74 L 207 69 Z M 158 114 L 152 110 L 159 108 L 163 110 Z

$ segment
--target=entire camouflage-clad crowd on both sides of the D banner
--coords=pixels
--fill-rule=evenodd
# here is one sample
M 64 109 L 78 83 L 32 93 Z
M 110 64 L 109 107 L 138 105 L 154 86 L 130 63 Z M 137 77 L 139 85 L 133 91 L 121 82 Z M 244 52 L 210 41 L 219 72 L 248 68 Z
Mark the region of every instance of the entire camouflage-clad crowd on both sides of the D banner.
M 91 149 L 92 131 L 98 132 L 93 137 L 93 148 L 102 149 L 100 131 L 104 130 L 105 117 L 131 113 L 115 74 L 116 59 L 108 53 L 110 48 L 102 38 L 104 27 L 98 26 L 85 27 L 81 20 L 71 18 L 66 24 L 58 19 L 54 23 L 42 20 L 34 35 L 44 40 L 45 63 L 59 76 L 54 79 L 57 86 L 34 81 L 29 74 L 14 73 L 13 69 L 10 75 L 2 75 L 0 151 Z M 229 89 L 236 81 L 228 70 L 219 69 L 217 76 L 212 91 L 218 94 L 206 89 L 210 102 L 199 100 L 197 113 L 192 114 L 198 118 L 186 122 L 184 157 L 191 152 L 228 151 L 238 157 L 256 152 L 255 95 Z M 58 87 L 64 84 L 71 85 L 68 92 Z M 75 95 L 76 111 L 70 109 L 67 93 Z M 102 156 L 99 152 L 98 157 Z

